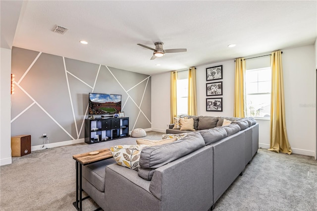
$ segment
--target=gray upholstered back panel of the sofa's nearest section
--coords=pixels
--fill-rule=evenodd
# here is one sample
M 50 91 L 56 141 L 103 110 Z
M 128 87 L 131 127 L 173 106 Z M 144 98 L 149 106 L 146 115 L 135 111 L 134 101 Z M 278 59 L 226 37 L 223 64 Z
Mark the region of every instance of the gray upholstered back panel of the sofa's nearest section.
M 209 210 L 212 177 L 212 147 L 204 146 L 157 168 L 150 191 L 162 210 Z

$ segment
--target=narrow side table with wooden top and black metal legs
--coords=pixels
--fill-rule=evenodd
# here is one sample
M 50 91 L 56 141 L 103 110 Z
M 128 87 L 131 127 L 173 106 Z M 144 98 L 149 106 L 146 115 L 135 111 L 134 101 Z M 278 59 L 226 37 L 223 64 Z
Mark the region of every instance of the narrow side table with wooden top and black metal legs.
M 73 159 L 76 160 L 76 202 L 74 202 L 73 205 L 78 211 L 82 211 L 82 201 L 89 198 L 89 196 L 85 197 L 84 199 L 82 198 L 82 166 L 109 158 L 112 158 L 112 154 L 109 149 L 97 150 L 94 152 L 83 153 L 73 156 Z

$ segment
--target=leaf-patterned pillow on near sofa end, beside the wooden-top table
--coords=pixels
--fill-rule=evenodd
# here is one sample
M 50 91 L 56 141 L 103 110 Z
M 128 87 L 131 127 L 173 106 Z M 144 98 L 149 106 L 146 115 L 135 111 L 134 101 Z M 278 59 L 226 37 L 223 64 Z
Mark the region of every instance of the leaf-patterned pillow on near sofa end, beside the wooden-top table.
M 131 168 L 135 171 L 139 169 L 140 154 L 144 147 L 148 145 L 117 145 L 110 147 L 113 158 L 118 165 Z

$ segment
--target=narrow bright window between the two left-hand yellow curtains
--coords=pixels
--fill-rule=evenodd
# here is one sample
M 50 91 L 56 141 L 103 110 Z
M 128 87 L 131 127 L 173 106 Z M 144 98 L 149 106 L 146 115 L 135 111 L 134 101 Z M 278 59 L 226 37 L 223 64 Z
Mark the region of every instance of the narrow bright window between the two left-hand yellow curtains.
M 188 70 L 177 72 L 177 116 L 188 113 Z

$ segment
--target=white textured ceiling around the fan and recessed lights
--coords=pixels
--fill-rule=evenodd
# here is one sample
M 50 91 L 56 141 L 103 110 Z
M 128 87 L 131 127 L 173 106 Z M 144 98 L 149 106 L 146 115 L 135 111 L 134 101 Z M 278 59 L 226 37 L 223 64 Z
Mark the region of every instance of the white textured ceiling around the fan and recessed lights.
M 55 24 L 68 31 L 53 33 Z M 43 0 L 23 1 L 13 46 L 153 75 L 310 45 L 316 37 L 316 0 Z M 187 52 L 150 60 L 153 52 L 136 45 L 157 41 Z

